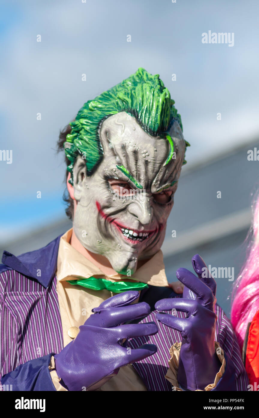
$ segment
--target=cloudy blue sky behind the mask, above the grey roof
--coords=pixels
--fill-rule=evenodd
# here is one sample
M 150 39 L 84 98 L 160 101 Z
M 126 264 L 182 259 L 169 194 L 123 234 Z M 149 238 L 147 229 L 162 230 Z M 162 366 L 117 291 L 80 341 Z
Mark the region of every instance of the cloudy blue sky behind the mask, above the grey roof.
M 170 90 L 191 143 L 189 166 L 258 135 L 256 0 L 10 0 L 0 7 L 0 149 L 13 150 L 12 164 L 0 161 L 4 240 L 65 216 L 59 130 L 138 67 L 160 74 Z M 203 44 L 209 30 L 234 32 L 234 46 Z

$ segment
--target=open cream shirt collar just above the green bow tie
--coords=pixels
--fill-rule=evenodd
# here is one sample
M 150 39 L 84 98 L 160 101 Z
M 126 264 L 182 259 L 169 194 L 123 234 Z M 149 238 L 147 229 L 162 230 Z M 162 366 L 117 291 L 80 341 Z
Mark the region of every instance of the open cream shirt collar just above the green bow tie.
M 100 268 L 70 245 L 72 232 L 73 229 L 70 229 L 60 237 L 56 272 L 59 281 L 92 276 L 108 278 L 111 281 L 128 278 L 126 275 L 118 273 L 115 275 L 104 274 Z M 153 286 L 168 286 L 164 268 L 163 253 L 159 250 L 150 260 L 138 268 L 130 278 Z

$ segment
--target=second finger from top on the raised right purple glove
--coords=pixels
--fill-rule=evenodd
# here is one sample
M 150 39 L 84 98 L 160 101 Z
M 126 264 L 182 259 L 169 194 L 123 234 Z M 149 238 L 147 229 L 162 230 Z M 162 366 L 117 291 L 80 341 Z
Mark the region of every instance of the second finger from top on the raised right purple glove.
M 199 301 L 201 305 L 206 306 L 209 309 L 213 307 L 215 298 L 211 289 L 205 283 L 199 280 L 186 268 L 179 268 L 176 270 L 176 276 L 186 288 L 197 296 L 197 301 Z M 185 292 L 183 296 L 185 297 Z

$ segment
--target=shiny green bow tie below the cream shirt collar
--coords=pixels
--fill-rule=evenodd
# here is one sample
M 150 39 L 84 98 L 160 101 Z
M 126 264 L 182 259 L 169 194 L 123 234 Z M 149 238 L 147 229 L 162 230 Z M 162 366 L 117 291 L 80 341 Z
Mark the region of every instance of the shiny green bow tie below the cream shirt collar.
M 92 290 L 107 289 L 113 293 L 122 293 L 128 290 L 142 290 L 147 288 L 148 285 L 140 282 L 110 282 L 106 279 L 97 279 L 95 277 L 89 277 L 84 279 L 83 277 L 78 280 L 67 280 L 71 285 L 79 285 Z

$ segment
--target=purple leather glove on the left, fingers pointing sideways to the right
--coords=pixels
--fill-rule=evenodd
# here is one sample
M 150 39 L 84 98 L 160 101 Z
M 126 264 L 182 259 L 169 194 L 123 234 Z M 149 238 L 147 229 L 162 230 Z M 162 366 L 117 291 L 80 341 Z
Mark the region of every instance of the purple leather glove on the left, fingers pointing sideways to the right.
M 149 314 L 150 307 L 145 302 L 130 305 L 138 296 L 138 291 L 119 293 L 93 308 L 76 338 L 55 354 L 57 375 L 68 390 L 95 390 L 116 375 L 120 367 L 156 353 L 153 344 L 137 349 L 122 345 L 124 339 L 158 332 L 154 322 L 121 325 Z

